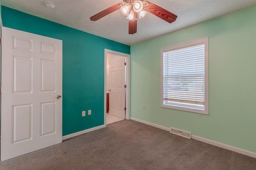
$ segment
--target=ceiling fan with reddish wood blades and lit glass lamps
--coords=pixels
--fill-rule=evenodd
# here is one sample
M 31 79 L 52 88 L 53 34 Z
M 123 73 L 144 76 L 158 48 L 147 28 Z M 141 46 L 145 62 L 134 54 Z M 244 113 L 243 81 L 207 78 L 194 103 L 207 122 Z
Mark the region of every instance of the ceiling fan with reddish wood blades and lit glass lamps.
M 148 12 L 161 18 L 162 20 L 172 23 L 176 20 L 177 16 L 171 12 L 153 4 L 146 0 L 123 0 L 124 2 L 118 3 L 110 8 L 92 16 L 92 21 L 97 21 L 100 18 L 120 9 L 126 19 L 129 20 L 129 34 L 137 32 L 137 18 L 143 18 Z

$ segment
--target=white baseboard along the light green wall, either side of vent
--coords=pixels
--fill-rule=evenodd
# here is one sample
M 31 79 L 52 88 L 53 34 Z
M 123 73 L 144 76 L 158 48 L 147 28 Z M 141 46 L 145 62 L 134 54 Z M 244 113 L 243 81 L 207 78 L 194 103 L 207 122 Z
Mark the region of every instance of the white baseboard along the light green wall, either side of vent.
M 134 121 L 138 121 L 140 123 L 144 123 L 146 125 L 150 125 L 150 126 L 154 126 L 154 127 L 157 127 L 159 129 L 163 129 L 163 130 L 166 130 L 166 131 L 170 131 L 170 128 L 168 127 L 164 127 L 164 126 L 161 126 L 161 125 L 157 125 L 157 124 L 154 124 L 154 123 L 150 123 L 150 122 L 147 122 L 147 121 L 143 121 L 143 120 L 140 120 L 140 119 L 136 119 L 134 117 L 130 117 L 131 120 L 134 120 Z M 237 147 L 233 147 L 233 146 L 230 146 L 230 145 L 226 145 L 224 143 L 219 143 L 219 142 L 216 142 L 216 141 L 212 141 L 212 140 L 209 140 L 209 139 L 206 139 L 206 138 L 202 138 L 202 137 L 198 137 L 198 136 L 195 136 L 195 135 L 191 135 L 191 138 L 192 139 L 195 139 L 195 140 L 198 140 L 198 141 L 201 141 L 201 142 L 204 142 L 204 143 L 208 143 L 210 145 L 214 145 L 216 147 L 220 147 L 220 148 L 224 148 L 224 149 L 228 149 L 228 150 L 232 150 L 234 152 L 238 152 L 240 154 L 244 154 L 244 155 L 247 155 L 247 156 L 251 156 L 253 158 L 256 158 L 256 153 L 255 152 L 251 152 L 251 151 L 248 151 L 248 150 L 244 150 L 244 149 L 240 149 L 240 148 L 237 148 Z

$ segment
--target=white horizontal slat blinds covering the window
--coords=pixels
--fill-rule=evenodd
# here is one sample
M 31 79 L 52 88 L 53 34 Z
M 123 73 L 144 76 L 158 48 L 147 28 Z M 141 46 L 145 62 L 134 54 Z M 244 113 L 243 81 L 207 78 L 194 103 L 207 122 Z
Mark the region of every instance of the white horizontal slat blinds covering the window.
M 163 53 L 165 101 L 204 105 L 204 44 Z

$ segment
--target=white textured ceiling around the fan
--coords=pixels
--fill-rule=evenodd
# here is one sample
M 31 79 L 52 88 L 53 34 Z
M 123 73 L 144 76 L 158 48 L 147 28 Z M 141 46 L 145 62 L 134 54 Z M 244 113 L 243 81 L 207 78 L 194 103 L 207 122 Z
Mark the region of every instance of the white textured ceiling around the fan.
M 48 0 L 56 5 L 46 8 L 44 0 L 0 0 L 3 6 L 13 8 L 46 20 L 67 25 L 126 45 L 177 31 L 204 21 L 256 6 L 256 0 L 149 0 L 176 14 L 177 20 L 168 23 L 148 13 L 138 19 L 137 33 L 128 34 L 128 20 L 120 10 L 98 21 L 90 17 L 122 2 L 122 0 Z

